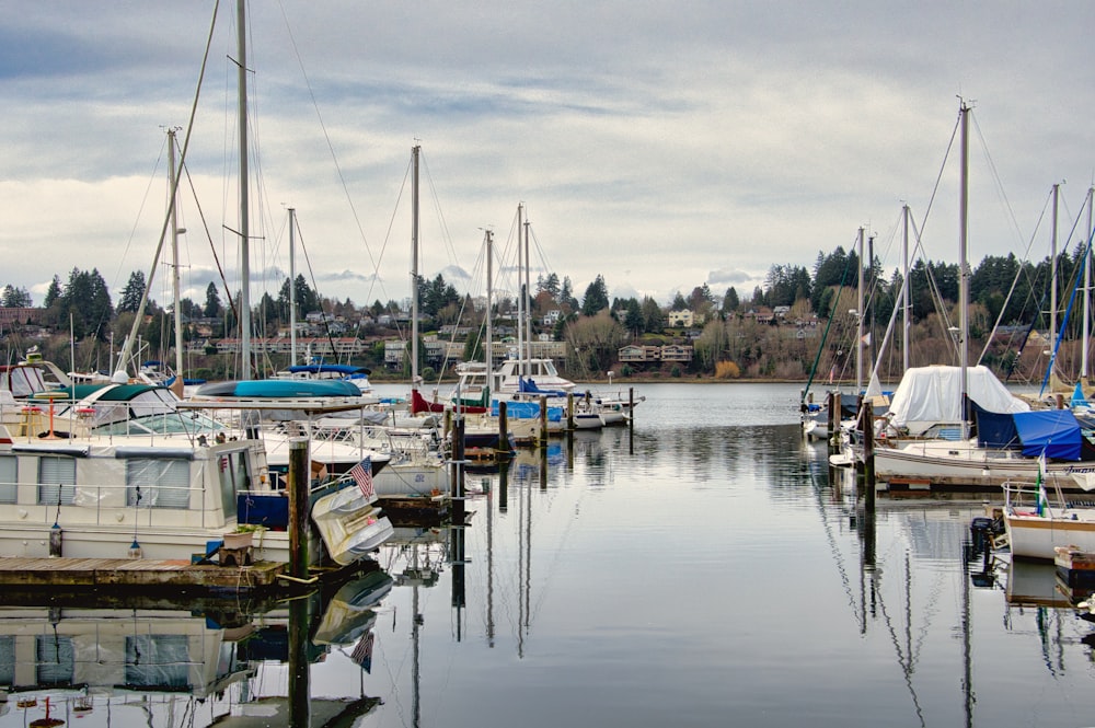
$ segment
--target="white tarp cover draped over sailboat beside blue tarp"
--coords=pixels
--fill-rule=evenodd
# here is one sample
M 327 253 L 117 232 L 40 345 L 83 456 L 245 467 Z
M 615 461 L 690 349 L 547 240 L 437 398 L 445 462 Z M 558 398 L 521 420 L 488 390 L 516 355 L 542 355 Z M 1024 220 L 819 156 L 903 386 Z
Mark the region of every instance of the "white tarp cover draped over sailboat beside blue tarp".
M 987 367 L 966 370 L 969 397 L 982 408 L 996 413 L 1029 412 L 1030 405 L 1007 391 Z M 915 367 L 904 372 L 889 407 L 890 424 L 920 435 L 933 425 L 960 423 L 961 368 Z

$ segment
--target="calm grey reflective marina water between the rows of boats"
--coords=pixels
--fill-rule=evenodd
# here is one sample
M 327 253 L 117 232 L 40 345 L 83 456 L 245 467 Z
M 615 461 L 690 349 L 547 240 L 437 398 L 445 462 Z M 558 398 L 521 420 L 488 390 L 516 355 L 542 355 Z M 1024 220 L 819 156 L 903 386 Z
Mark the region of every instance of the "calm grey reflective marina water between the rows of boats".
M 979 504 L 880 501 L 872 558 L 850 489 L 799 436 L 797 386 L 636 393 L 631 441 L 626 429 L 579 434 L 553 444 L 546 472 L 522 454 L 505 497 L 498 475 L 469 475 L 485 493 L 469 504 L 462 559 L 448 532 L 402 531 L 380 554 L 393 586 L 379 604 L 310 608 L 313 707 L 379 698 L 357 704 L 353 724 L 378 728 L 1095 725 L 1095 627 L 1067 606 L 1051 566 L 964 567 Z M 255 702 L 288 694 L 279 655 L 292 645 L 279 652 L 274 638 L 285 642 L 285 614 L 254 617 L 251 639 L 231 643 L 184 613 L 200 635 L 191 645 L 220 639 L 204 657 L 221 673 L 241 649 L 257 659 L 270 645 L 249 680 L 186 703 L 115 689 L 80 713 L 57 691 L 54 717 L 205 726 L 266 709 L 285 725 Z M 177 681 L 177 655 L 149 647 L 166 627 L 143 617 L 39 612 L 9 616 L 0 636 L 36 636 L 56 667 L 50 636 L 68 628 L 91 682 L 88 666 L 123 659 L 96 646 L 114 631 L 145 645 L 146 662 L 161 658 L 161 682 Z M 13 696 L 4 710 L 0 728 L 24 726 L 44 702 Z

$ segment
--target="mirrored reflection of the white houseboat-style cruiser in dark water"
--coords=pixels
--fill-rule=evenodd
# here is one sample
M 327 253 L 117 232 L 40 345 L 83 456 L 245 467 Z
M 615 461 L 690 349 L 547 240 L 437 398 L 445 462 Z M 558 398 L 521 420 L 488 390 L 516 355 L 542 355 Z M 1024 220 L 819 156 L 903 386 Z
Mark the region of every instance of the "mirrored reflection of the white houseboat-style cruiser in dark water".
M 356 719 L 380 698 L 362 691 L 308 700 L 308 668 L 338 649 L 367 671 L 374 610 L 392 583 L 374 570 L 333 594 L 261 612 L 241 612 L 229 599 L 171 608 L 150 600 L 95 606 L 87 598 L 0 606 L 0 726 L 60 726 L 93 715 L 122 726 Z M 297 635 L 304 637 L 299 650 Z M 302 683 L 297 697 L 295 680 Z

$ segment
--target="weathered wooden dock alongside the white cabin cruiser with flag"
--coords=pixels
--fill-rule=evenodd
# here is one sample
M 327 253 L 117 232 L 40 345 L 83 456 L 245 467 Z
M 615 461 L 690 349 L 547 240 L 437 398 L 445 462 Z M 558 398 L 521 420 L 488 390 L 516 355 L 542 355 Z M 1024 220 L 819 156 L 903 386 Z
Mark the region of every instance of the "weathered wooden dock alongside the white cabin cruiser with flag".
M 249 591 L 274 588 L 285 564 L 217 566 L 151 558 L 0 558 L 0 587 Z M 3 599 L 0 597 L 0 602 Z

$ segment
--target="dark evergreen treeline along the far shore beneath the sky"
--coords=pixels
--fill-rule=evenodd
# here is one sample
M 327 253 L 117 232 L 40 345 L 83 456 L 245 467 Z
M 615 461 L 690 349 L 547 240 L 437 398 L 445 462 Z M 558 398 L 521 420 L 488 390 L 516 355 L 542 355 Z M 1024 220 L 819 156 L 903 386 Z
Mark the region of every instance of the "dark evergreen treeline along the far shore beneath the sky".
M 1082 270 L 1081 251 L 1062 253 L 1057 261 L 1061 300 L 1058 309 L 1063 310 L 1073 289 L 1075 277 Z M 860 261 L 854 251 L 837 247 L 831 253 L 819 252 L 812 270 L 796 265 L 773 265 L 763 286 L 757 286 L 751 293 L 744 294 L 729 287 L 716 293 L 707 284 L 701 284 L 690 292 L 677 291 L 671 302 L 664 305 L 653 297 L 616 298 L 609 297 L 608 284 L 598 275 L 579 298 L 568 277 L 556 274 L 538 277 L 534 289 L 528 292 L 525 310 L 535 322 L 537 333 L 550 333 L 556 340 L 570 344 L 572 360 L 566 362 L 572 373 L 578 375 L 606 371 L 611 368 L 620 347 L 629 342 L 658 344 L 680 339 L 684 332 L 667 328 L 669 316 L 675 311 L 690 311 L 694 314 L 698 328 L 703 335 L 693 334 L 698 357 L 690 369 L 698 373 L 713 373 L 719 361 L 727 358 L 735 361 L 742 373 L 757 375 L 798 375 L 794 372 L 806 367 L 812 357 L 806 347 L 797 354 L 782 351 L 783 346 L 765 340 L 763 332 L 744 334 L 740 328 L 750 311 L 772 310 L 787 307 L 792 320 L 814 319 L 826 321 L 835 314 L 846 312 L 849 302 L 855 308 L 857 298 Z M 970 274 L 969 289 L 971 302 L 979 312 L 973 317 L 971 334 L 983 337 L 992 324 L 1000 321 L 1011 325 L 1038 325 L 1045 327 L 1044 312 L 1048 310 L 1051 262 L 1046 259 L 1031 264 L 1019 262 L 1014 255 L 987 256 Z M 877 259 L 864 269 L 865 321 L 868 326 L 884 326 L 895 307 L 899 304 L 903 277 L 899 270 L 887 274 Z M 959 268 L 957 264 L 918 261 L 909 271 L 910 314 L 913 324 L 924 323 L 933 315 L 954 320 L 953 308 L 958 298 Z M 66 338 L 71 333 L 77 340 L 107 340 L 112 336 L 125 336 L 132 324 L 132 317 L 141 309 L 146 289 L 145 275 L 135 271 L 122 289 L 117 303 L 112 301 L 110 291 L 97 269 L 90 271 L 73 268 L 68 280 L 62 282 L 55 276 L 43 301 L 42 323 L 62 332 Z M 523 290 L 522 290 L 523 292 Z M 839 298 L 838 298 L 839 297 Z M 350 299 L 324 298 L 311 287 L 303 276 L 290 280 L 286 278 L 276 296 L 264 292 L 253 305 L 253 331 L 261 336 L 276 335 L 288 325 L 291 301 L 296 300 L 297 319 L 313 311 L 322 311 L 328 319 L 358 322 L 367 314 L 372 320 L 389 313 L 405 315 L 406 302 L 379 300 L 370 305 L 358 307 Z M 180 301 L 180 310 L 188 324 L 183 331 L 184 340 L 195 335 L 193 322 L 204 320 L 211 325 L 214 337 L 233 336 L 239 328 L 239 292 L 229 296 L 214 284 L 206 289 L 205 300 Z M 419 315 L 426 322 L 426 330 L 446 325 L 479 331 L 484 313 L 476 311 L 470 297 L 461 296 L 456 287 L 439 274 L 433 279 L 418 278 Z M 4 286 L 0 293 L 0 304 L 7 308 L 30 308 L 30 293 L 22 288 Z M 505 324 L 518 309 L 517 301 L 502 298 L 495 301 L 494 315 Z M 555 312 L 555 313 L 553 313 Z M 150 323 L 142 331 L 148 342 L 160 342 L 165 350 L 172 345 L 173 317 L 170 310 L 154 300 L 145 301 L 142 313 Z M 552 315 L 549 315 L 552 314 Z M 834 320 L 835 320 L 834 319 Z M 549 323 L 551 322 L 551 323 Z M 1080 325 L 1080 316 L 1073 316 L 1070 326 Z M 775 321 L 773 323 L 781 323 Z M 786 323 L 783 320 L 782 323 Z M 945 326 L 944 326 L 945 328 Z M 353 334 L 368 336 L 377 334 L 374 326 L 356 326 Z M 469 337 L 466 356 L 480 353 L 482 343 L 479 334 Z M 740 347 L 723 346 L 722 342 L 733 337 Z M 748 346 L 742 344 L 748 342 Z M 930 348 L 930 347 L 927 347 Z M 775 351 L 775 355 L 771 355 Z M 782 357 L 773 360 L 772 356 Z

